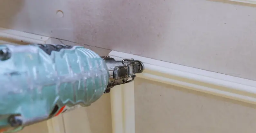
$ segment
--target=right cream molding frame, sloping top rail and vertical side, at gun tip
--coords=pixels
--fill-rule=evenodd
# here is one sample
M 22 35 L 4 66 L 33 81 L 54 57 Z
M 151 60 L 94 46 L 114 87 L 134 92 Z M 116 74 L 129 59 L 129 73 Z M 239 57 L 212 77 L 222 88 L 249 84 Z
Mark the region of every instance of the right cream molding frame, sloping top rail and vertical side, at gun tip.
M 256 81 L 253 80 L 117 51 L 111 51 L 109 56 L 116 60 L 142 61 L 145 70 L 136 75 L 139 78 L 256 104 Z M 134 88 L 134 83 L 124 84 L 110 92 L 113 133 L 135 133 Z

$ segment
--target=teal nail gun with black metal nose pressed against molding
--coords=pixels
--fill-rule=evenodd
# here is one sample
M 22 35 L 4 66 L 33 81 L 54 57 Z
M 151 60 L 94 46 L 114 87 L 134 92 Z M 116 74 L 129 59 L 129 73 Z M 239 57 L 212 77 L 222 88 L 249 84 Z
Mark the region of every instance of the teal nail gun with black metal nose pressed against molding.
M 143 71 L 82 46 L 0 45 L 0 132 L 16 132 L 81 106 Z

